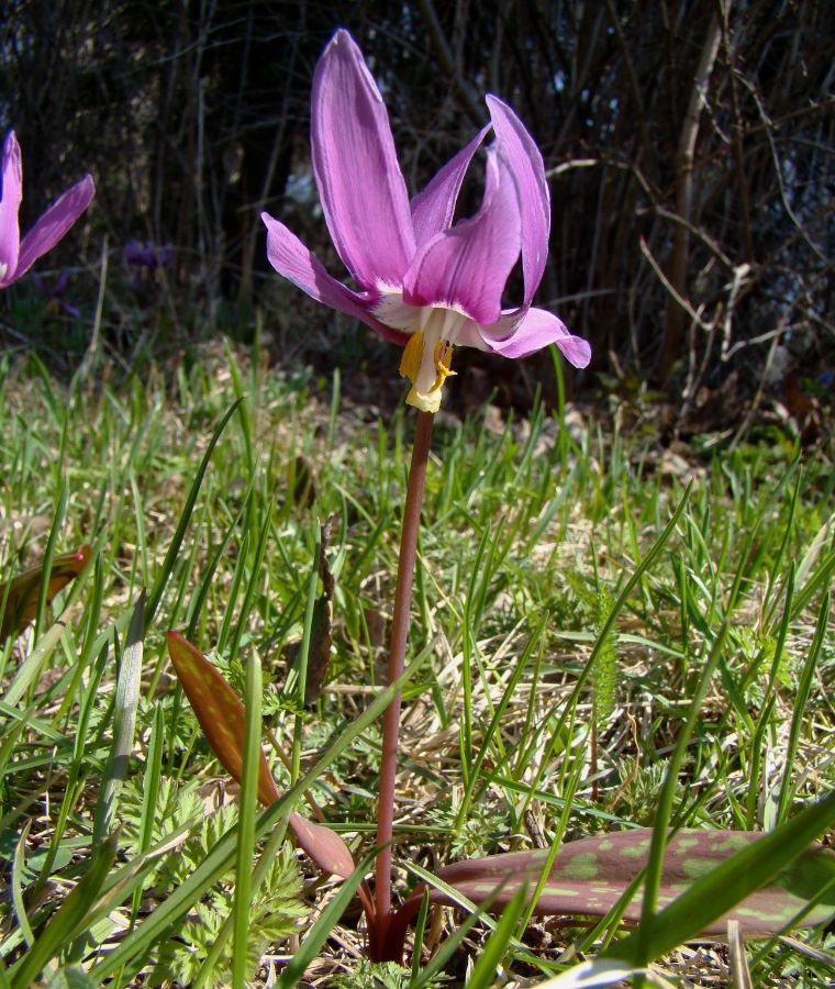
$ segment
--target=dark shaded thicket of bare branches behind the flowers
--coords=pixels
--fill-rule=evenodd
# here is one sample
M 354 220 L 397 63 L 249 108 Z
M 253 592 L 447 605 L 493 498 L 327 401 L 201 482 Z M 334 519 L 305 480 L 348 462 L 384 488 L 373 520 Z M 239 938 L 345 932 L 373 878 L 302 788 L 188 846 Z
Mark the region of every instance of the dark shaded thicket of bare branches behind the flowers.
M 285 360 L 333 363 L 319 330 L 334 316 L 267 270 L 258 219 L 279 215 L 342 270 L 309 163 L 324 43 L 339 24 L 355 34 L 413 190 L 483 124 L 483 92 L 499 93 L 545 156 L 541 302 L 592 342 L 579 384 L 594 371 L 620 392 L 649 381 L 693 432 L 700 386 L 728 420 L 764 389 L 791 412 L 832 395 L 817 380 L 835 360 L 831 13 L 824 0 L 12 0 L 0 116 L 24 149 L 24 215 L 93 173 L 78 235 L 92 270 L 104 234 L 115 260 L 134 237 L 175 247 L 163 319 L 143 324 L 109 299 L 108 345 L 135 355 L 230 320 L 249 335 L 259 307 Z M 87 312 L 94 282 L 73 286 Z

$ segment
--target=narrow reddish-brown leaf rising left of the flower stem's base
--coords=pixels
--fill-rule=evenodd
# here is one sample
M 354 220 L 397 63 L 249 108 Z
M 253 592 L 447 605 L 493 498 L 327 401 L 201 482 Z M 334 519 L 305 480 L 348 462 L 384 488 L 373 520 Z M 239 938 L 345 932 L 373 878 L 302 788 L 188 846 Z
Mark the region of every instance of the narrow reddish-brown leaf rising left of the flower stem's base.
M 203 654 L 179 632 L 169 632 L 168 655 L 182 689 L 194 709 L 212 752 L 223 768 L 241 781 L 246 712 L 241 698 Z M 260 751 L 258 799 L 265 807 L 280 798 L 276 781 Z M 354 871 L 354 858 L 343 838 L 322 824 L 292 813 L 289 825 L 299 846 L 324 873 L 346 878 Z

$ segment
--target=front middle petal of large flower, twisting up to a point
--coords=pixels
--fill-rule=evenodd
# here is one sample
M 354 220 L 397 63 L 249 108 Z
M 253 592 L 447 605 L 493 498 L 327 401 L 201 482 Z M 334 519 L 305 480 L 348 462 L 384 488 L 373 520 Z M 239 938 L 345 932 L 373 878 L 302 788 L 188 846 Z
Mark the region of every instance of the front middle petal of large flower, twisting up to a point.
M 499 319 L 504 284 L 520 252 L 520 204 L 502 155 L 489 149 L 487 167 L 481 209 L 417 252 L 403 279 L 404 302 L 458 309 L 481 324 Z

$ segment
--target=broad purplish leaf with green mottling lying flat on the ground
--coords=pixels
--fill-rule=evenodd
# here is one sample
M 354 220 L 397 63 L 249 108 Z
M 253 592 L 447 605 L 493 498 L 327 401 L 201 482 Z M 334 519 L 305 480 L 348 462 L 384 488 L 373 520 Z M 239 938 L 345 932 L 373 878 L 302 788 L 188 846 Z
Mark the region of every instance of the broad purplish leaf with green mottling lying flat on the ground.
M 761 835 L 739 831 L 679 831 L 665 856 L 659 909 L 667 907 L 701 876 L 733 853 Z M 534 908 L 538 915 L 604 916 L 615 905 L 628 884 L 647 863 L 650 829 L 620 831 L 564 844 L 554 862 L 548 881 Z M 474 903 L 482 902 L 501 882 L 493 901 L 508 903 L 523 885 L 534 886 L 544 868 L 547 849 L 515 852 L 454 863 L 437 870 L 437 877 Z M 795 858 L 770 884 L 756 890 L 731 911 L 702 929 L 705 935 L 724 935 L 727 921 L 736 920 L 743 933 L 770 934 L 781 930 L 821 888 L 835 877 L 835 853 L 813 845 Z M 407 900 L 408 909 L 420 905 L 422 887 Z M 453 904 L 450 897 L 433 890 L 432 901 Z M 404 904 L 404 909 L 407 908 Z M 835 889 L 825 902 L 804 918 L 806 925 L 826 921 L 835 911 Z M 624 921 L 641 919 L 641 894 L 623 914 Z

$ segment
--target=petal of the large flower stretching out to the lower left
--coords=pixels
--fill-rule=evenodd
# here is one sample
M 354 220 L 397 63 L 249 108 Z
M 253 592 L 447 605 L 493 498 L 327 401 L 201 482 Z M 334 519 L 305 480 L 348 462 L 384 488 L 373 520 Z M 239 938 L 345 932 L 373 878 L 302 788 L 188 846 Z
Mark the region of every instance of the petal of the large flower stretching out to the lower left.
M 405 342 L 404 334 L 375 319 L 368 311 L 369 302 L 329 275 L 322 264 L 283 223 L 269 213 L 261 213 L 261 220 L 267 226 L 267 257 L 279 275 L 283 275 L 316 302 L 323 302 L 337 312 L 344 312 L 367 323 L 383 338 L 399 344 Z

